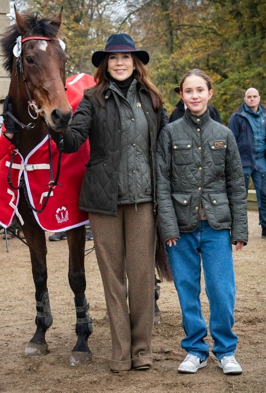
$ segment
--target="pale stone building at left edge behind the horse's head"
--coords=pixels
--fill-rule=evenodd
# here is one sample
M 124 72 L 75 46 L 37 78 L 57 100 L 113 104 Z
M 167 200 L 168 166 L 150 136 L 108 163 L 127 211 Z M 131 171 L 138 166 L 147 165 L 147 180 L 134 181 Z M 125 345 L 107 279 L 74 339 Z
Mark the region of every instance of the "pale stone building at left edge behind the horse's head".
M 9 0 L 0 0 L 0 36 L 10 25 L 10 19 L 6 14 L 10 13 Z M 3 57 L 0 53 L 0 114 L 2 113 L 2 104 L 8 93 L 10 79 L 2 67 Z

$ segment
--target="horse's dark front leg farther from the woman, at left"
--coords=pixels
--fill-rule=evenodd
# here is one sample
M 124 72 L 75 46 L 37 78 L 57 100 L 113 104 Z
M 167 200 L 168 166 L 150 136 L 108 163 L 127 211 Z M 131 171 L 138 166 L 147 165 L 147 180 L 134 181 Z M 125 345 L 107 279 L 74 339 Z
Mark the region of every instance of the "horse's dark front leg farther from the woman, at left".
M 35 317 L 36 331 L 25 349 L 25 354 L 27 356 L 40 356 L 48 352 L 45 333 L 53 323 L 47 289 L 47 248 L 45 233 L 37 224 L 32 211 L 30 211 L 25 202 L 23 194 L 20 197 L 19 210 L 24 221 L 22 227 L 23 233 L 30 249 L 31 270 L 35 285 L 37 311 Z

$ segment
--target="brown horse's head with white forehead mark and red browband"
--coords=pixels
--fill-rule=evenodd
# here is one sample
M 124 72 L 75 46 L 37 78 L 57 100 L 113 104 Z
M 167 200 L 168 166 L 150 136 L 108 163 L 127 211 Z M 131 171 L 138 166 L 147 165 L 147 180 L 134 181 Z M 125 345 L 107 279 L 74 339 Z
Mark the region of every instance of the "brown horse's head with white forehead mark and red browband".
M 9 35 L 9 46 L 15 47 L 12 71 L 10 53 L 4 62 L 11 73 L 9 95 L 12 101 L 16 102 L 14 97 L 19 95 L 20 100 L 24 99 L 27 104 L 31 101 L 36 105 L 35 114 L 40 114 L 54 131 L 65 129 L 72 117 L 72 108 L 64 90 L 67 55 L 58 39 L 61 17 L 62 8 L 55 19 L 38 20 L 37 16 L 20 15 L 15 7 L 16 26 L 10 28 L 13 43 Z M 17 36 L 21 36 L 21 46 L 16 41 Z M 1 44 L 7 55 L 4 39 Z M 33 105 L 33 114 L 35 109 Z

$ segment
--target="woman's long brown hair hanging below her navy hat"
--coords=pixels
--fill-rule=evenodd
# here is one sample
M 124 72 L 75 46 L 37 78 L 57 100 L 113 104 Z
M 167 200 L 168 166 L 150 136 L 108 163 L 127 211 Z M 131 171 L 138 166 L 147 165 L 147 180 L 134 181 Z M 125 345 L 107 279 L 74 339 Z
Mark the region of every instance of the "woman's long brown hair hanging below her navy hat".
M 133 66 L 135 68 L 135 79 L 149 92 L 153 109 L 155 111 L 162 109 L 163 96 L 161 92 L 157 89 L 157 87 L 151 82 L 147 67 L 143 64 L 142 61 L 138 59 L 136 55 L 134 55 L 134 53 L 131 53 L 131 56 L 133 58 Z M 95 92 L 99 105 L 102 107 L 104 106 L 102 98 L 103 90 L 105 89 L 106 83 L 110 81 L 109 74 L 107 73 L 107 63 L 108 55 L 104 57 L 103 61 L 101 62 L 94 74 L 94 81 L 96 85 L 84 91 L 84 95 L 88 98 L 91 97 L 92 92 Z

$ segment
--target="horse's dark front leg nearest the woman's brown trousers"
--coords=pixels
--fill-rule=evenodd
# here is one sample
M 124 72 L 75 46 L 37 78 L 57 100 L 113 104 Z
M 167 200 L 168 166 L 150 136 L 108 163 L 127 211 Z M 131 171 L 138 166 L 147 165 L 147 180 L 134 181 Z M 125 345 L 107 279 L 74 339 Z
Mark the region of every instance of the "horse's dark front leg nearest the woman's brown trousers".
M 76 227 L 67 231 L 67 241 L 69 246 L 68 279 L 74 293 L 76 310 L 75 332 L 77 334 L 77 342 L 72 350 L 70 364 L 76 366 L 91 362 L 88 338 L 92 333 L 92 319 L 89 317 L 89 303 L 87 303 L 85 296 L 85 227 Z

